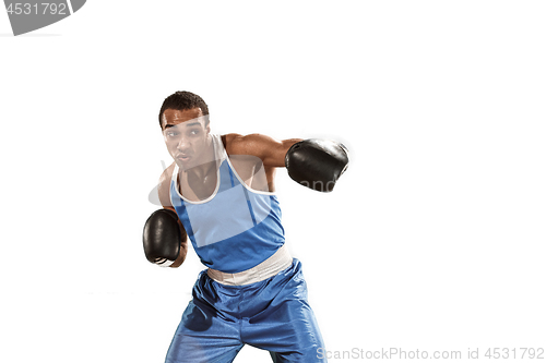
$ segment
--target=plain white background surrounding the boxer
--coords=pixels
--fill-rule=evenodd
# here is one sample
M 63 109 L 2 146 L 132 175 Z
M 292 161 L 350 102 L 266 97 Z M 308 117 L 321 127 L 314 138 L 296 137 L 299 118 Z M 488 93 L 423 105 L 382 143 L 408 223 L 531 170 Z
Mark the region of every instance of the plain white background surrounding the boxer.
M 142 251 L 157 113 L 182 89 L 215 133 L 349 148 L 331 194 L 277 173 L 332 354 L 546 348 L 545 12 L 91 0 L 20 37 L 0 12 L 0 361 L 163 362 L 203 268 Z

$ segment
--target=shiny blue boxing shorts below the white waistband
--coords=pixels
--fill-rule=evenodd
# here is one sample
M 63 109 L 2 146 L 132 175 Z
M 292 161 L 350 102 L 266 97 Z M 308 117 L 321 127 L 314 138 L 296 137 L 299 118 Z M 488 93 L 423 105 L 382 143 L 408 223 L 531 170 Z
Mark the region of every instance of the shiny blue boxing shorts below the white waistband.
M 246 286 L 222 285 L 202 271 L 165 362 L 228 363 L 245 344 L 270 351 L 273 362 L 327 362 L 317 352 L 324 344 L 298 259 Z

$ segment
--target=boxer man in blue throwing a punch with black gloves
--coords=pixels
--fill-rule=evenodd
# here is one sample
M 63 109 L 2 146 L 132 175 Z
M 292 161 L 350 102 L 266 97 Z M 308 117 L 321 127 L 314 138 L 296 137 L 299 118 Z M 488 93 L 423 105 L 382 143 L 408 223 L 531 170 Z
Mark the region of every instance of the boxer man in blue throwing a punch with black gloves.
M 159 125 L 174 162 L 159 179 L 164 208 L 144 227 L 146 258 L 178 267 L 189 238 L 207 267 L 166 362 L 233 362 L 246 343 L 270 351 L 273 362 L 325 362 L 301 264 L 284 245 L 274 174 L 286 167 L 300 184 L 330 192 L 347 167 L 346 149 L 318 140 L 211 134 L 206 104 L 189 92 L 165 99 Z

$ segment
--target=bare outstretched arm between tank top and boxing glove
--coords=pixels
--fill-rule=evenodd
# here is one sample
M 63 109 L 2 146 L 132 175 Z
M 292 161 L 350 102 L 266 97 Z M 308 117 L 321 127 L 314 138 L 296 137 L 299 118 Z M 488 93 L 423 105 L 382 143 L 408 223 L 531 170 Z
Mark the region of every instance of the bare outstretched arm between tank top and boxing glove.
M 230 135 L 227 143 L 227 153 L 232 155 L 252 155 L 259 157 L 265 167 L 282 168 L 286 152 L 301 138 L 277 141 L 273 137 L 251 134 Z

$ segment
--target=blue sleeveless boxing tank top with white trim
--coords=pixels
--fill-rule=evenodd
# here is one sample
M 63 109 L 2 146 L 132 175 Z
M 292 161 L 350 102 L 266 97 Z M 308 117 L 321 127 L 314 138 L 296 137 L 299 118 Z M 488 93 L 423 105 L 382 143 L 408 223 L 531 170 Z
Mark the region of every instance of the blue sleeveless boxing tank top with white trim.
M 200 202 L 183 197 L 175 165 L 170 202 L 201 262 L 235 274 L 259 265 L 284 244 L 281 207 L 274 193 L 254 191 L 240 179 L 221 136 L 211 136 L 219 164 L 214 193 Z

